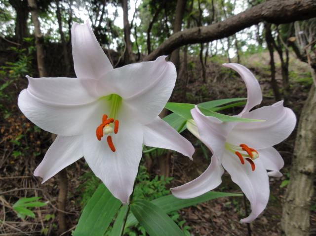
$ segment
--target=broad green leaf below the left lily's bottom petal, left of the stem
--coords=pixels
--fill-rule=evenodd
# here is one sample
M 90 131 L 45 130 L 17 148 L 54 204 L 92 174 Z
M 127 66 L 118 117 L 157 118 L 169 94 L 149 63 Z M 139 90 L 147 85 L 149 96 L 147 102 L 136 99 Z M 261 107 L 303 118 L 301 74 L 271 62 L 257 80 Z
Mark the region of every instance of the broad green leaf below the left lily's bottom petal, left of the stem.
M 121 202 L 113 197 L 104 184 L 100 184 L 84 207 L 74 236 L 91 235 L 91 232 L 93 236 L 103 236 L 120 205 Z

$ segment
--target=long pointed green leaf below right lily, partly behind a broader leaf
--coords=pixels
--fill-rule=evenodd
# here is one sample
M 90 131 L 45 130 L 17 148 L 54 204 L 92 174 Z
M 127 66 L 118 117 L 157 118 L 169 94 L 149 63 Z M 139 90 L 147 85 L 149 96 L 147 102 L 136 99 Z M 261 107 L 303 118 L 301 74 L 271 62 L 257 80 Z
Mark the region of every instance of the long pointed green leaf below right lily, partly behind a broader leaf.
M 235 197 L 242 196 L 241 194 L 233 194 L 233 193 L 222 193 L 222 192 L 207 192 L 201 196 L 192 199 L 178 199 L 173 195 L 164 196 L 158 199 L 151 201 L 153 204 L 160 207 L 165 213 L 169 213 L 174 210 L 180 210 L 184 207 L 196 205 L 201 202 L 207 202 L 216 198 L 222 197 Z M 137 219 L 133 214 L 129 214 L 127 217 L 125 228 L 136 225 Z

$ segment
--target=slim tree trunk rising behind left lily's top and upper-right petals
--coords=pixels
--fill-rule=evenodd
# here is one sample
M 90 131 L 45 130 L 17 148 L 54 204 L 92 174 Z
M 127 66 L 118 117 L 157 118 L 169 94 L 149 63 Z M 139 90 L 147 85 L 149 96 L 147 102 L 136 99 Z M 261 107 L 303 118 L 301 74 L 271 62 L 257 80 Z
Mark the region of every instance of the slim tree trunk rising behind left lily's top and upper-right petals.
M 125 52 L 124 52 L 124 64 L 130 64 L 135 62 L 135 58 L 132 51 L 132 42 L 130 40 L 130 25 L 128 21 L 128 2 L 122 0 L 123 9 L 123 23 L 124 23 L 124 41 L 125 41 Z

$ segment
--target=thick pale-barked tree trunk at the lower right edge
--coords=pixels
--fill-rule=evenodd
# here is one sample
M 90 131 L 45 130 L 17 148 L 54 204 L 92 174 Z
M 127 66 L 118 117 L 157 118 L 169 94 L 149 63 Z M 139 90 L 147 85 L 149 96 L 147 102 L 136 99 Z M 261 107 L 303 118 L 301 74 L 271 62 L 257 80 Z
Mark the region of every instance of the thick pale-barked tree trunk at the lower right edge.
M 286 236 L 308 236 L 310 230 L 316 157 L 315 90 L 313 85 L 305 101 L 296 136 L 290 182 L 282 210 L 281 225 Z

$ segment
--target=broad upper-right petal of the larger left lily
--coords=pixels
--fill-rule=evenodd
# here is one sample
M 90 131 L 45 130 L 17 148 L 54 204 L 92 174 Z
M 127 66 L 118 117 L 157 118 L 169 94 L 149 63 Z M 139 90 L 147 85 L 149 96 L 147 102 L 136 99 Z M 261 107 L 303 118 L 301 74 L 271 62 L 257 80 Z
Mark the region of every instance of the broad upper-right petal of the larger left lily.
M 130 112 L 143 124 L 154 120 L 171 96 L 177 71 L 165 56 L 156 61 L 141 62 L 116 68 L 105 74 L 98 83 L 98 92 L 104 94 L 111 87 L 123 98 Z

